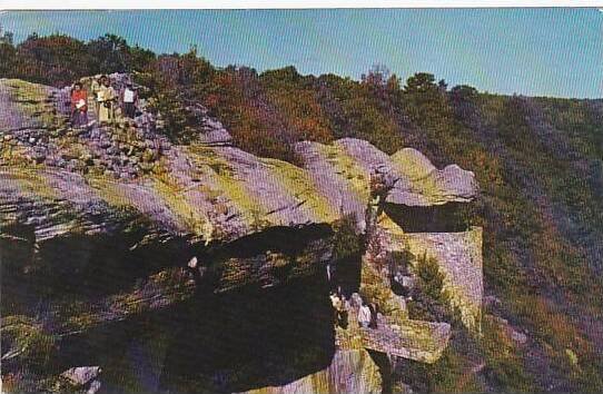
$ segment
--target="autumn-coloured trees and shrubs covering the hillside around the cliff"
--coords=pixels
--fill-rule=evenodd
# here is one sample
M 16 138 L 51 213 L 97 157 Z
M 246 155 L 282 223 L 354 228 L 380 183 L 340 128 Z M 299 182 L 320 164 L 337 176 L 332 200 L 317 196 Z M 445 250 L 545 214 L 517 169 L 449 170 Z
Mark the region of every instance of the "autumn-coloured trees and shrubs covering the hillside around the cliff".
M 176 142 L 195 139 L 200 104 L 238 147 L 259 156 L 299 162 L 293 149 L 299 139 L 356 137 L 389 154 L 411 146 L 438 166 L 456 162 L 474 171 L 482 188 L 478 209 L 459 219 L 485 227 L 488 288 L 542 346 L 552 347 L 547 354 L 556 377 L 586 388 L 600 382 L 602 357 L 592 352 L 594 339 L 581 318 L 603 315 L 603 286 L 592 268 L 600 264 L 593 245 L 603 237 L 600 100 L 504 97 L 469 86 L 448 90 L 426 72 L 401 88 L 383 66 L 362 81 L 302 76 L 294 67 L 258 76 L 247 67 L 215 68 L 196 48 L 155 57 L 111 35 L 88 43 L 32 35 L 14 46 L 11 35 L 0 31 L 0 58 L 1 77 L 59 86 L 97 72 L 141 71 L 137 78 L 149 88 L 150 108 Z M 336 258 L 364 248 L 348 219 L 335 225 L 335 245 Z M 449 314 L 433 262 L 418 262 L 418 276 L 425 298 L 417 295 L 409 305 L 414 313 L 432 319 Z M 524 359 L 512 355 L 503 334 L 484 332 L 488 376 L 502 390 L 533 388 Z M 566 348 L 580 370 L 569 364 Z

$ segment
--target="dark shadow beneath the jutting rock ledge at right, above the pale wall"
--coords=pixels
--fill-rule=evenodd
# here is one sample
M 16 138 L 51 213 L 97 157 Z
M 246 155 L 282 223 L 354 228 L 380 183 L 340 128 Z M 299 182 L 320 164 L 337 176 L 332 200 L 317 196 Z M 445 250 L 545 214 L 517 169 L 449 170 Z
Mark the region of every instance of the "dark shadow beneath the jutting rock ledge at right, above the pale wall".
M 431 207 L 384 204 L 384 210 L 406 233 L 458 233 L 468 229 L 468 207 L 447 203 Z

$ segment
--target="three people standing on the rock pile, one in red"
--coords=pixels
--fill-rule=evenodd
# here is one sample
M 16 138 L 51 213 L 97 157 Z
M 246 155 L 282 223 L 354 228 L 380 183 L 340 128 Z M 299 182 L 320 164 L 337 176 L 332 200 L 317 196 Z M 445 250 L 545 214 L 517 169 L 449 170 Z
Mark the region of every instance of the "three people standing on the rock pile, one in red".
M 119 93 L 113 89 L 111 80 L 107 76 L 92 80 L 90 85 L 95 111 L 99 125 L 113 124 L 116 109 L 121 109 L 121 116 L 134 119 L 138 105 L 138 90 L 130 80 Z M 76 127 L 89 126 L 88 122 L 88 91 L 81 81 L 73 83 L 71 89 L 71 121 Z

